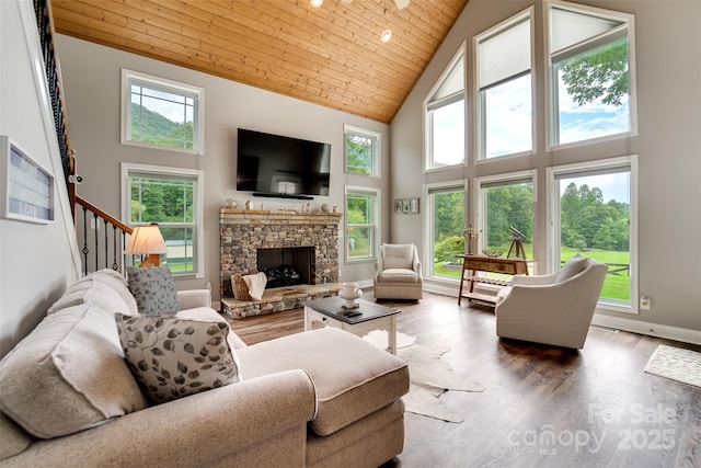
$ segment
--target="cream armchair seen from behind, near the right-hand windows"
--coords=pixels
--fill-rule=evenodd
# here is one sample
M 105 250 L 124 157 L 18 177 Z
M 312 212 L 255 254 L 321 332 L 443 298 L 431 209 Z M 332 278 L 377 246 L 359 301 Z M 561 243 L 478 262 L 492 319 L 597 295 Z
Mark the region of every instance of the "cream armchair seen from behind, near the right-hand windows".
M 607 271 L 577 254 L 558 273 L 514 276 L 496 296 L 496 334 L 583 349 Z

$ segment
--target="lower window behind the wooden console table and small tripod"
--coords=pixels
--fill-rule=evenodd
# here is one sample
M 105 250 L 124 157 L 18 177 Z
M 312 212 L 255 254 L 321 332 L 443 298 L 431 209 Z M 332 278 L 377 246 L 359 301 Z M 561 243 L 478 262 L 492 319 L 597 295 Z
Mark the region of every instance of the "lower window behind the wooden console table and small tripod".
M 503 256 L 533 259 L 533 178 L 535 173 L 524 172 L 479 180 L 480 252 L 489 249 L 502 252 Z M 516 251 L 516 238 L 522 252 Z M 532 264 L 528 266 L 532 269 Z

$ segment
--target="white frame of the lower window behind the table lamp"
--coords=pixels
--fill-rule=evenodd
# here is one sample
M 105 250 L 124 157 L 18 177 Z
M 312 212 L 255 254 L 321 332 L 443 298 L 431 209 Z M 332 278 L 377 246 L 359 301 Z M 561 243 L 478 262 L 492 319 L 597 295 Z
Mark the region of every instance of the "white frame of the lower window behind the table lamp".
M 205 277 L 205 219 L 204 219 L 204 186 L 205 173 L 197 169 L 183 169 L 163 165 L 140 164 L 131 162 L 123 162 L 122 164 L 122 219 L 131 225 L 131 192 L 129 186 L 129 176 L 133 174 L 146 174 L 153 178 L 173 178 L 187 179 L 195 182 L 193 192 L 193 271 L 191 272 L 173 272 L 175 278 L 204 278 Z M 135 225 L 136 226 L 136 225 Z M 133 259 L 128 259 L 131 262 Z

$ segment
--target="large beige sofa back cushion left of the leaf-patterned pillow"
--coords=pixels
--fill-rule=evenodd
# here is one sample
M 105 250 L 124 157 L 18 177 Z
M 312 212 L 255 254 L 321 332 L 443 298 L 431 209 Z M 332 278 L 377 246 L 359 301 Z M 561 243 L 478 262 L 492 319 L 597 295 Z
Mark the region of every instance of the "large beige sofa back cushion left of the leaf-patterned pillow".
M 80 305 L 47 316 L 0 362 L 0 409 L 42 438 L 146 408 L 114 318 Z

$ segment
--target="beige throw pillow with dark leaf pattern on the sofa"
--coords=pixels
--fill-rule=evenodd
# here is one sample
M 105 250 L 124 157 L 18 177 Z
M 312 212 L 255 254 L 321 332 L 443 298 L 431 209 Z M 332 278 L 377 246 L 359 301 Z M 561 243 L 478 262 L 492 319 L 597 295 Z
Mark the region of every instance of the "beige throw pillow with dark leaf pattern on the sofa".
M 153 403 L 241 380 L 223 322 L 115 315 L 129 369 Z

